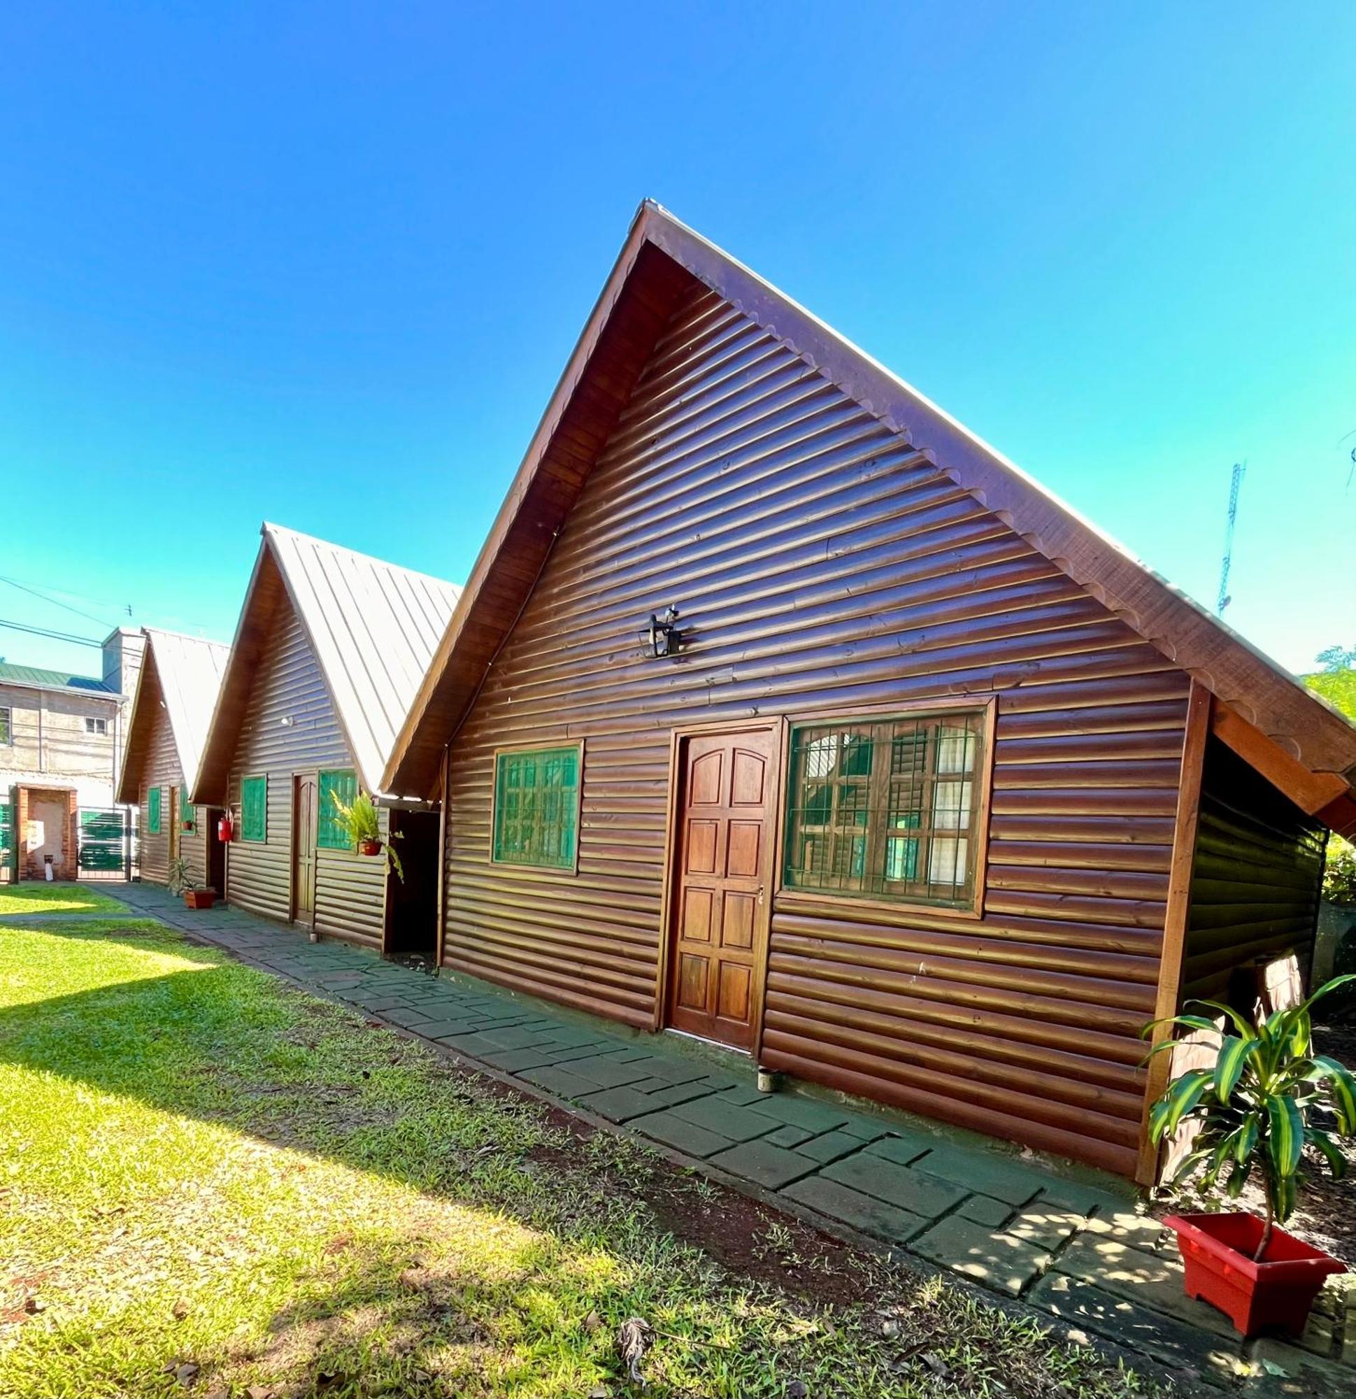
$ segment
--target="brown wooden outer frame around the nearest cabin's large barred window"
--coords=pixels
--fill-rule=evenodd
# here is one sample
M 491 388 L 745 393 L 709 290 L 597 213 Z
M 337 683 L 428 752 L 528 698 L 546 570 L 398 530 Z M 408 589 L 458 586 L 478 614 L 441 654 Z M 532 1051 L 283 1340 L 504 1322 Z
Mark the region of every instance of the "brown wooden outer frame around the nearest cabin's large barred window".
M 835 911 L 846 916 L 850 911 L 888 914 L 890 922 L 897 922 L 902 914 L 910 911 L 927 918 L 955 918 L 977 921 L 984 916 L 984 895 L 988 869 L 990 817 L 994 785 L 994 732 L 998 711 L 995 695 L 963 695 L 953 700 L 934 700 L 916 705 L 878 704 L 847 705 L 842 709 L 814 709 L 786 716 L 784 750 L 781 762 L 781 813 L 777 825 L 776 874 L 773 898 L 776 907 L 808 914 Z M 874 725 L 892 720 L 916 722 L 921 719 L 945 719 L 960 713 L 980 716 L 980 753 L 974 767 L 974 881 L 970 898 L 963 904 L 937 902 L 903 895 L 885 897 L 877 893 L 856 894 L 850 890 L 801 888 L 786 881 L 787 842 L 791 837 L 790 803 L 794 796 L 791 764 L 795 758 L 794 730 L 819 725 Z

